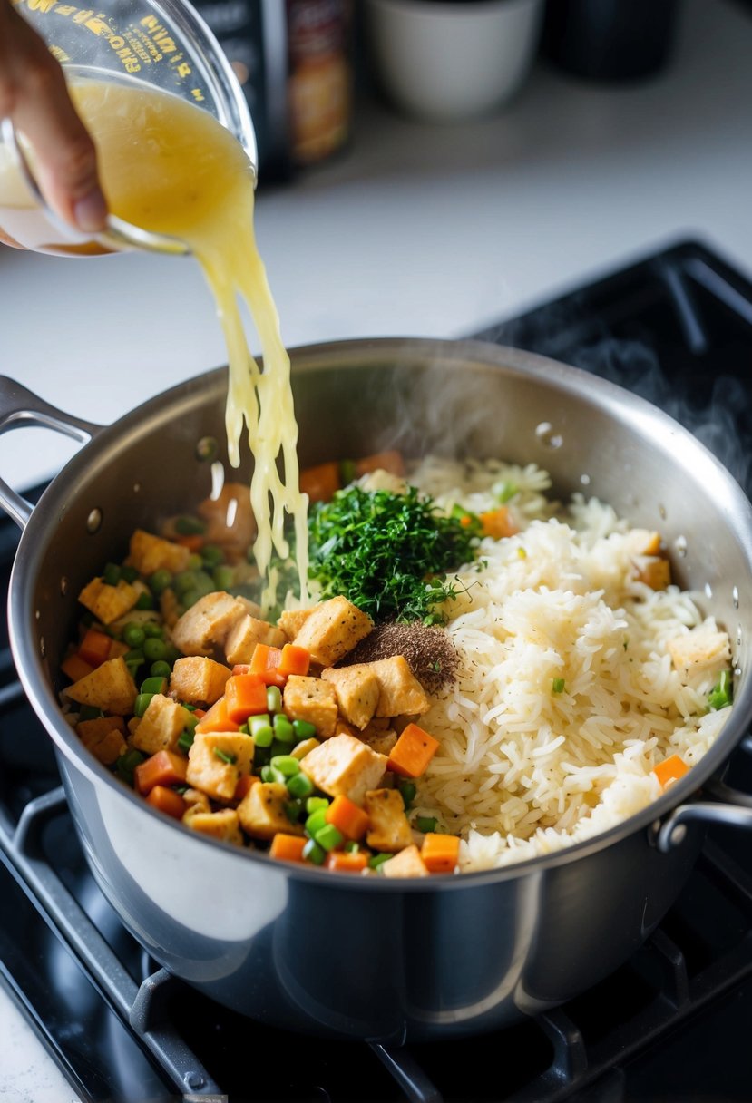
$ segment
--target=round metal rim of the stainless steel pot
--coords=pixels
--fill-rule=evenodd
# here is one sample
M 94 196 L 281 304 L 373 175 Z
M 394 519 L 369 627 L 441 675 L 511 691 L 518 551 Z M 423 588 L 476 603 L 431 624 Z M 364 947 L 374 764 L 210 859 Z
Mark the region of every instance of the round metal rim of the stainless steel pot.
M 292 372 L 310 372 L 321 367 L 329 370 L 359 370 L 366 366 L 388 363 L 394 365 L 400 360 L 427 362 L 427 357 L 462 362 L 472 361 L 490 370 L 506 370 L 515 376 L 528 376 L 540 379 L 556 389 L 574 394 L 608 415 L 626 420 L 627 425 L 637 428 L 653 427 L 655 433 L 660 433 L 664 447 L 668 442 L 673 447 L 681 446 L 691 453 L 695 471 L 702 471 L 713 478 L 715 491 L 726 497 L 726 508 L 729 518 L 734 518 L 733 532 L 746 554 L 750 566 L 750 583 L 752 586 L 752 505 L 741 486 L 720 461 L 689 430 L 675 421 L 669 415 L 651 403 L 626 390 L 619 385 L 602 379 L 581 368 L 562 364 L 546 356 L 509 346 L 492 344 L 476 340 L 444 340 L 430 338 L 367 338 L 347 339 L 342 341 L 300 345 L 289 350 Z M 42 670 L 39 649 L 32 642 L 33 633 L 29 627 L 33 624 L 34 614 L 30 601 L 30 588 L 26 585 L 29 576 L 33 576 L 36 560 L 41 554 L 44 540 L 37 539 L 46 535 L 49 526 L 47 514 L 64 503 L 66 491 L 75 485 L 77 479 L 92 465 L 92 461 L 108 447 L 122 439 L 123 435 L 136 432 L 143 426 L 146 416 L 150 418 L 162 407 L 185 405 L 193 407 L 196 401 L 205 401 L 213 390 L 224 388 L 226 368 L 217 367 L 192 377 L 164 390 L 121 418 L 101 428 L 97 436 L 85 445 L 65 467 L 51 480 L 39 504 L 33 510 L 19 543 L 19 548 L 11 571 L 8 595 L 8 621 L 10 645 L 18 670 L 20 682 L 29 697 L 34 711 L 52 738 L 55 750 L 62 754 L 76 770 L 83 773 L 95 785 L 106 784 L 122 800 L 131 801 L 147 815 L 157 816 L 163 823 L 164 816 L 142 801 L 132 790 L 119 782 L 115 775 L 99 763 L 85 749 L 73 728 L 65 720 L 60 703 L 47 683 Z M 172 410 L 172 416 L 175 416 Z M 64 505 L 63 505 L 64 508 Z M 52 706 L 52 709 L 51 707 Z M 297 863 L 280 863 L 266 853 L 250 848 L 234 848 L 239 860 L 254 863 L 272 863 L 279 872 L 283 871 L 293 878 L 313 879 L 320 885 L 337 890 L 367 891 L 419 891 L 460 890 L 463 885 L 477 887 L 483 884 L 497 884 L 513 880 L 531 874 L 538 874 L 554 866 L 568 865 L 604 849 L 643 828 L 647 828 L 648 842 L 652 843 L 655 827 L 663 816 L 674 811 L 677 805 L 690 799 L 708 779 L 723 767 L 733 749 L 741 741 L 752 719 L 752 679 L 745 681 L 741 694 L 734 697 L 733 707 L 723 728 L 705 753 L 702 759 L 675 782 L 658 800 L 634 813 L 626 820 L 614 824 L 609 829 L 590 838 L 563 846 L 546 855 L 538 855 L 519 861 L 492 869 L 474 870 L 463 874 L 431 875 L 430 879 L 409 878 L 389 879 L 382 877 L 333 877 L 331 871 L 310 868 Z M 181 831 L 201 846 L 221 847 L 227 853 L 227 844 L 191 831 L 184 824 L 174 821 L 172 826 Z

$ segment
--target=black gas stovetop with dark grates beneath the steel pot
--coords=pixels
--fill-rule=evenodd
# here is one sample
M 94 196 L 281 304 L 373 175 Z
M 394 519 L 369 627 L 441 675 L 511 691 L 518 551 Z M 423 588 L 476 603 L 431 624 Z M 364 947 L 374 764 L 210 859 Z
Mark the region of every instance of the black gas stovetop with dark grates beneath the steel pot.
M 707 247 L 662 249 L 479 335 L 632 387 L 692 429 L 750 493 L 752 285 Z M 15 544 L 13 524 L 0 523 L 1 586 Z M 729 780 L 752 790 L 744 747 Z M 749 1101 L 752 845 L 712 828 L 646 945 L 537 1020 L 391 1050 L 293 1037 L 170 977 L 122 929 L 88 874 L 3 624 L 0 979 L 92 1103 Z

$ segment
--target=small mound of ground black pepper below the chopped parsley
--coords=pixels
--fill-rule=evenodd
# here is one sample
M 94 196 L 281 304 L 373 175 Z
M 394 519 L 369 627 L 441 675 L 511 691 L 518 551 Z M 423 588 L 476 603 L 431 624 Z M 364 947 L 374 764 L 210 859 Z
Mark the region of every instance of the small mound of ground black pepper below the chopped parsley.
M 373 663 L 404 655 L 428 694 L 439 693 L 454 682 L 458 654 L 449 633 L 438 624 L 377 624 L 347 653 L 337 666 Z

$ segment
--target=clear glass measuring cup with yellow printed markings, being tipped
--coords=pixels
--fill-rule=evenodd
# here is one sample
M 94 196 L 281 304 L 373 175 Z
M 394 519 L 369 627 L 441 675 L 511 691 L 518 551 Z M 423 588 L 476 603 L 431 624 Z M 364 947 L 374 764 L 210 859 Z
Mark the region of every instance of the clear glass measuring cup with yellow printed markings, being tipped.
M 96 10 L 64 0 L 14 3 L 69 83 L 96 79 L 172 93 L 210 111 L 238 139 L 256 170 L 256 136 L 243 89 L 222 46 L 186 0 L 104 0 Z M 101 234 L 76 232 L 44 200 L 33 156 L 10 119 L 2 120 L 0 138 L 0 240 L 67 256 L 132 248 L 189 251 L 175 237 L 112 214 Z

